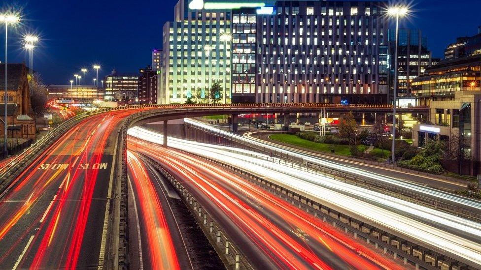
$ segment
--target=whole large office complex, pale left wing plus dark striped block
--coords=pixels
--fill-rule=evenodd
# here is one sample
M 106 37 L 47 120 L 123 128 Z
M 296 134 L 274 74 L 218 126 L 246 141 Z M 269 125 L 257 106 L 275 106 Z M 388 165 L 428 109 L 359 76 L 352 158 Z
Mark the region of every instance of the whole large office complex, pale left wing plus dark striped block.
M 222 81 L 222 31 L 232 33 L 232 102 L 388 102 L 386 2 L 246 1 L 232 10 L 210 2 L 195 10 L 179 1 L 182 20 L 164 26 L 162 102 L 204 97 L 207 75 Z

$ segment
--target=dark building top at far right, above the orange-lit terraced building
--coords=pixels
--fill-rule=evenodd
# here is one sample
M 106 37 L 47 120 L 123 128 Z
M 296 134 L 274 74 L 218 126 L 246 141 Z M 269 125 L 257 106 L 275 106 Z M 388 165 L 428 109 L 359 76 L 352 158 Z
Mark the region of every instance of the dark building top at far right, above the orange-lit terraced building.
M 444 51 L 445 60 L 454 60 L 476 55 L 481 55 L 481 26 L 478 27 L 478 34 L 458 37 L 456 43 L 449 44 Z

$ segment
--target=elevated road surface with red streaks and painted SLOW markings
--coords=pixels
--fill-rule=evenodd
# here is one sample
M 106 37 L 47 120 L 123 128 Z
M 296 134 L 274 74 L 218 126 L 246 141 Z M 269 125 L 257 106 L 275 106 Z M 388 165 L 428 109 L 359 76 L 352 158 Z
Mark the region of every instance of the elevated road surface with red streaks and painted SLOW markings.
M 2 194 L 0 268 L 103 265 L 115 141 L 131 113 L 81 121 Z

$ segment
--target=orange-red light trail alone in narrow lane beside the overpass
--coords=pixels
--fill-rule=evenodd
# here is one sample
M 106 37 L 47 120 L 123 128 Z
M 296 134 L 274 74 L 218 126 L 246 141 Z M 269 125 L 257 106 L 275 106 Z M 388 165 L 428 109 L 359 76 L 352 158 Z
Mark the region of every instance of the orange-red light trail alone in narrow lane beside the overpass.
M 151 267 L 155 269 L 180 269 L 169 226 L 156 194 L 153 180 L 144 165 L 131 151 L 127 151 L 127 166 L 132 173 L 134 190 L 143 216 L 142 230 L 147 234 Z

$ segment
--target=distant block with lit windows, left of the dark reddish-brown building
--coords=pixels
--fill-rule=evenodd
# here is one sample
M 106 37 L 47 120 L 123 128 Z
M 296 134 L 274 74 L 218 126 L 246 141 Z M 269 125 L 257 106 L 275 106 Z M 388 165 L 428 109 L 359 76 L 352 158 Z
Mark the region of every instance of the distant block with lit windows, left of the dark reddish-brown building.
M 140 73 L 118 73 L 115 69 L 103 79 L 105 101 L 135 100 Z

